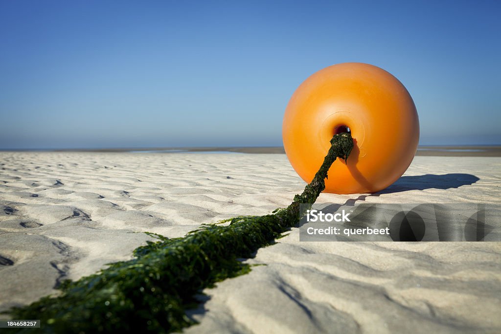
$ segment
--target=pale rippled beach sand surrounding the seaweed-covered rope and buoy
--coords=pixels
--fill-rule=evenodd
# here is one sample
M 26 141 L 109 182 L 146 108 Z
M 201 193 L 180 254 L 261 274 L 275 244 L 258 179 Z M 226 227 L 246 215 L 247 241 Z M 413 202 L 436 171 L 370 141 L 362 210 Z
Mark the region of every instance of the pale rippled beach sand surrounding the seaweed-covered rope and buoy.
M 501 158 L 416 157 L 379 195 L 317 203 L 499 203 L 500 183 Z M 0 310 L 130 258 L 151 239 L 135 232 L 266 214 L 304 185 L 279 154 L 0 152 Z M 299 242 L 294 228 L 248 262 L 266 265 L 206 289 L 186 332 L 501 332 L 498 242 Z

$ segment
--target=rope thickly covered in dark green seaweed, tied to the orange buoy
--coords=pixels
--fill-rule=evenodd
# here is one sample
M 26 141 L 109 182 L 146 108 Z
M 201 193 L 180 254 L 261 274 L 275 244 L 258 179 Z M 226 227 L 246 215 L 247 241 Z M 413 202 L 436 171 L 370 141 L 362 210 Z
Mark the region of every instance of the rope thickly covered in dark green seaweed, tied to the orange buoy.
M 314 179 L 287 208 L 228 219 L 228 225 L 203 225 L 182 238 L 150 233 L 158 241 L 136 248 L 133 259 L 64 281 L 59 296 L 43 297 L 8 313 L 15 319 L 41 319 L 40 328 L 20 332 L 180 331 L 195 323 L 185 312 L 198 304 L 195 295 L 250 271 L 240 259 L 253 257 L 296 225 L 303 213 L 300 205 L 315 202 L 332 163 L 337 157 L 346 160 L 352 148 L 349 133 L 334 135 Z

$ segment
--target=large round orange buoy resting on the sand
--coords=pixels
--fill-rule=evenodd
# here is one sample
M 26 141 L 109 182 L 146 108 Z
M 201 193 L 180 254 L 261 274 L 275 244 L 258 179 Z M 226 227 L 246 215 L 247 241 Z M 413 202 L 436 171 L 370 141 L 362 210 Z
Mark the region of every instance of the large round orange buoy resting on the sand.
M 351 132 L 353 151 L 329 169 L 325 192 L 373 193 L 395 182 L 417 150 L 414 101 L 397 78 L 362 63 L 329 66 L 306 79 L 287 105 L 282 138 L 296 172 L 311 182 L 332 136 Z

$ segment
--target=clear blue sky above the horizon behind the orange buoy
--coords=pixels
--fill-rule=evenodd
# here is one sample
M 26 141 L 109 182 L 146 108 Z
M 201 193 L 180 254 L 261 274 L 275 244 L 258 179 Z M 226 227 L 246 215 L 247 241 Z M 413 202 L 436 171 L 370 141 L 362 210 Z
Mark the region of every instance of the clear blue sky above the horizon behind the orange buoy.
M 343 62 L 409 90 L 421 145 L 501 144 L 501 2 L 0 0 L 0 148 L 278 146 Z

